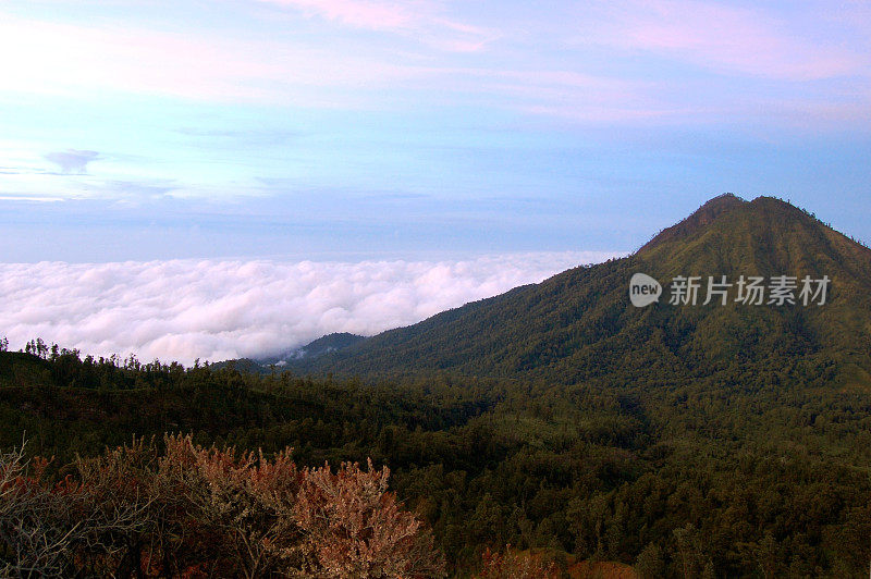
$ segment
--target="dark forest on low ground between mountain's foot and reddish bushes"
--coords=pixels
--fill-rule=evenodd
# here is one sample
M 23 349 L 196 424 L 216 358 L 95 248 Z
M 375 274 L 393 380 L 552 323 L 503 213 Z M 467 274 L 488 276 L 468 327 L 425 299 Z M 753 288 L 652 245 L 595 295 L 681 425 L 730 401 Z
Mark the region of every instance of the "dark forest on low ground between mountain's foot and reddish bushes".
M 790 386 L 802 371 L 609 391 L 2 353 L 0 445 L 26 436 L 27 455 L 54 457 L 52 480 L 75 477 L 77 456 L 168 430 L 267 457 L 291 446 L 302 467 L 371 459 L 459 576 L 506 545 L 563 569 L 610 560 L 642 577 L 860 576 L 871 395 Z

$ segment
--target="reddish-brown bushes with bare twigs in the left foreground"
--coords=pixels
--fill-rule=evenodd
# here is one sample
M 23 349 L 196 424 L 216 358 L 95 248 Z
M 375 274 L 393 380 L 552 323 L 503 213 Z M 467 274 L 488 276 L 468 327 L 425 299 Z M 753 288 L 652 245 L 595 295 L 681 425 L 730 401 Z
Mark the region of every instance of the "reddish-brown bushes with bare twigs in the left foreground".
M 0 576 L 444 576 L 387 467 L 299 469 L 290 451 L 267 459 L 181 435 L 163 446 L 134 440 L 56 482 L 45 460 L 0 455 Z

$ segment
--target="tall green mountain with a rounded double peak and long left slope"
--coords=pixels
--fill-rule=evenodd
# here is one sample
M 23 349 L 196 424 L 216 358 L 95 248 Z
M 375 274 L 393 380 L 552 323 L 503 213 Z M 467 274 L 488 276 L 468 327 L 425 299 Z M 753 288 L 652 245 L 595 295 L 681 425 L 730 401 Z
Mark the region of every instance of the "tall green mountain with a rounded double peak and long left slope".
M 637 308 L 629 280 L 646 273 L 664 287 Z M 823 305 L 701 305 L 708 276 L 737 283 L 762 276 L 827 276 Z M 676 276 L 700 276 L 699 304 L 672 305 Z M 813 286 L 817 288 L 817 285 Z M 799 290 L 794 292 L 798 297 Z M 561 383 L 685 381 L 732 367 L 800 370 L 842 387 L 871 384 L 871 250 L 783 200 L 716 197 L 657 234 L 634 255 L 580 267 L 540 284 L 467 304 L 340 352 L 294 360 L 297 372 L 361 375 L 450 371 Z M 768 300 L 768 297 L 765 298 Z M 798 368 L 797 370 L 797 367 Z M 820 378 L 822 380 L 822 378 Z

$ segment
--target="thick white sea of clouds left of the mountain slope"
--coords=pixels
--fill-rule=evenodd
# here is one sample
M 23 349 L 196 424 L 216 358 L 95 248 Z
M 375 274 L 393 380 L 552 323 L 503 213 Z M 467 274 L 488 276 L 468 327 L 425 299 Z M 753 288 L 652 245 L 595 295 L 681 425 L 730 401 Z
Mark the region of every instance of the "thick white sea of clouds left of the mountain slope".
M 454 261 L 0 263 L 0 337 L 185 365 L 372 335 L 616 254 Z

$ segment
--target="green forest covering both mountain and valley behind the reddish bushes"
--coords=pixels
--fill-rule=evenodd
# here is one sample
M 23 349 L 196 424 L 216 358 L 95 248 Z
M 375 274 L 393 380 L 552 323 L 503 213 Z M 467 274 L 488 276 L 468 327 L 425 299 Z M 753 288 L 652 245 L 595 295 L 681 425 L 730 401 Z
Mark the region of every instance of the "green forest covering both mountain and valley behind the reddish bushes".
M 636 271 L 833 287 L 819 307 L 641 309 Z M 33 463 L 42 488 L 86 480 L 134 434 L 155 457 L 188 441 L 327 479 L 371 460 L 354 472 L 388 467 L 384 500 L 438 554 L 371 576 L 864 577 L 870 292 L 868 248 L 783 201 L 726 196 L 628 258 L 286 367 L 0 352 L 0 447 L 53 457 Z M 299 565 L 331 576 L 319 562 Z

